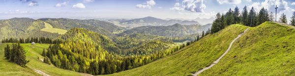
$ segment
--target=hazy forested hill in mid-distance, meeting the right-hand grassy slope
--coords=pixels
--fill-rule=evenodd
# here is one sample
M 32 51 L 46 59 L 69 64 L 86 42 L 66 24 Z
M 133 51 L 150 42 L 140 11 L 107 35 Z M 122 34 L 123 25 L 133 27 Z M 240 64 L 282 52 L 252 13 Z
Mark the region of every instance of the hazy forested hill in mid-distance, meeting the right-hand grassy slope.
M 167 37 L 183 37 L 191 34 L 201 34 L 203 31 L 207 31 L 211 27 L 211 24 L 206 25 L 180 25 L 174 24 L 171 26 L 142 26 L 136 27 L 127 31 L 124 34 L 149 34 Z

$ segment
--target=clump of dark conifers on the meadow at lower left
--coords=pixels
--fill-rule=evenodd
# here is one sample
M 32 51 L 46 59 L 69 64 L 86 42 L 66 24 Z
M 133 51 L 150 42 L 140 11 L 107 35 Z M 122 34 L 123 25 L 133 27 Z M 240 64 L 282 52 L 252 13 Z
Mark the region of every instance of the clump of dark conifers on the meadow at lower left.
M 4 47 L 4 57 L 9 62 L 14 62 L 22 67 L 26 67 L 29 60 L 26 60 L 26 52 L 20 43 L 12 44 L 10 47 L 8 44 Z

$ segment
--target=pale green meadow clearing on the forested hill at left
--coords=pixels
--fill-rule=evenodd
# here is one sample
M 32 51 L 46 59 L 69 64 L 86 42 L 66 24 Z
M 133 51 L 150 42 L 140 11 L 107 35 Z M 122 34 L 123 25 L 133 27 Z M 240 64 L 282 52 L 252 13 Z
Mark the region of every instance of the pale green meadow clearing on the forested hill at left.
M 58 28 L 53 28 L 51 24 L 44 22 L 45 28 L 41 29 L 41 31 L 46 31 L 50 33 L 59 33 L 59 34 L 65 34 L 67 31 L 58 29 Z

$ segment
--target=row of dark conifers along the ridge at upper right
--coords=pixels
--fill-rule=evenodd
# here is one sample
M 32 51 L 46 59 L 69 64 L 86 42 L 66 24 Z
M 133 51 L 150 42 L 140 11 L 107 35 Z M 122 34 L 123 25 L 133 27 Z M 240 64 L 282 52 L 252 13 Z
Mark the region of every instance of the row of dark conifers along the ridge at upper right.
M 230 8 L 226 14 L 217 13 L 215 16 L 215 20 L 212 23 L 212 27 L 211 29 L 209 29 L 209 32 L 213 34 L 224 29 L 226 26 L 236 23 L 241 23 L 245 26 L 255 27 L 264 23 L 265 21 L 274 21 L 274 17 L 273 13 L 269 13 L 264 7 L 259 12 L 255 12 L 254 8 L 252 7 L 251 10 L 248 12 L 247 6 L 244 6 L 243 10 L 240 13 L 239 8 L 236 6 L 234 10 Z M 284 13 L 279 19 L 279 22 L 287 23 L 287 18 Z M 295 12 L 293 12 L 293 16 L 291 17 L 290 25 L 295 26 Z

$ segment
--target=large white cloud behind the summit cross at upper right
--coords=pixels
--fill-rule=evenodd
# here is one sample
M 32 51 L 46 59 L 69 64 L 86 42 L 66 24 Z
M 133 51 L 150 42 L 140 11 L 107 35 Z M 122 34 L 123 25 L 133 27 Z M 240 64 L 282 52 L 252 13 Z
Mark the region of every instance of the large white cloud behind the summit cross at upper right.
M 261 3 L 259 2 L 254 2 L 252 3 L 249 8 L 254 7 L 255 11 L 258 12 L 260 11 L 261 8 L 266 8 L 269 12 L 275 12 L 274 8 L 276 5 L 279 7 L 277 12 L 282 12 L 282 11 L 291 11 L 292 8 L 288 6 L 288 2 L 285 0 L 265 0 Z

